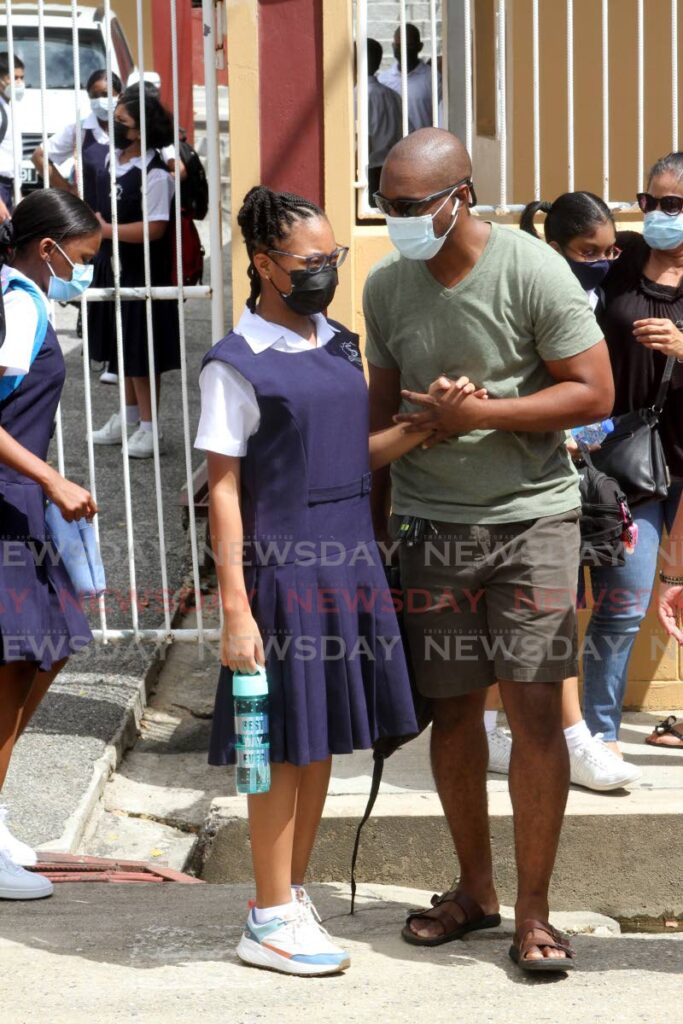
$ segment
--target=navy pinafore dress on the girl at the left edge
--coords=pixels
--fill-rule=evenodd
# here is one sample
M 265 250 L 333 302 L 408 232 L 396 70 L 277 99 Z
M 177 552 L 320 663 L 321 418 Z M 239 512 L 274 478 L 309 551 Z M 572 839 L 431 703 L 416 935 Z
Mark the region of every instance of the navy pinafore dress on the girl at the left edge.
M 48 323 L 28 374 L 0 402 L 0 427 L 39 459 L 47 458 L 65 376 Z M 71 579 L 47 544 L 41 486 L 0 463 L 0 665 L 34 662 L 47 671 L 91 640 Z

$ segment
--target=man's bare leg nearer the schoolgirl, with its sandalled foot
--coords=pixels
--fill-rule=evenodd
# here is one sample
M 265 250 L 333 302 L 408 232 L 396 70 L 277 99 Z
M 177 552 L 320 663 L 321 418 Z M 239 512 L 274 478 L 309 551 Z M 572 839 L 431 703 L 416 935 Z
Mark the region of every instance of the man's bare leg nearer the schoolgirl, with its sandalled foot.
M 494 888 L 488 811 L 486 808 L 486 767 L 488 745 L 483 726 L 486 690 L 434 701 L 431 733 L 431 761 L 436 790 L 449 822 L 460 861 L 458 889 L 475 900 L 486 913 L 499 908 Z M 421 938 L 436 938 L 444 932 L 439 910 L 464 922 L 461 907 L 452 901 L 425 911 L 411 923 Z

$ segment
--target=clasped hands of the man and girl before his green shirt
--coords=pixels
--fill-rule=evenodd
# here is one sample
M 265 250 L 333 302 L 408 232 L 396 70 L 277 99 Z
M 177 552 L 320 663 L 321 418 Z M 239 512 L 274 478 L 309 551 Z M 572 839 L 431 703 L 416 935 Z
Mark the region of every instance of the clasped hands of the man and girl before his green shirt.
M 477 388 L 468 377 L 452 381 L 439 377 L 430 385 L 427 394 L 420 391 L 401 391 L 401 396 L 414 406 L 421 406 L 420 413 L 398 413 L 394 423 L 403 425 L 407 433 L 425 433 L 429 437 L 423 447 L 433 447 L 454 434 L 466 434 L 483 427 L 488 392 Z

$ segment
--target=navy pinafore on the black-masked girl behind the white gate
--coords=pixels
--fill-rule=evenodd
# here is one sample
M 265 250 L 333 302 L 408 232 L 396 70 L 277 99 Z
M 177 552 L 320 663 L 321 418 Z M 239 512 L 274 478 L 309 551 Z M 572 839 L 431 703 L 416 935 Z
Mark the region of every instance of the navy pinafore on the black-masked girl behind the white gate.
M 102 147 L 105 148 L 105 147 Z M 147 171 L 168 168 L 159 154 L 147 164 Z M 103 163 L 96 175 L 96 199 L 93 209 L 112 222 L 109 163 Z M 120 224 L 134 224 L 142 220 L 142 171 L 131 167 L 117 178 L 117 211 Z M 170 224 L 170 221 L 169 221 Z M 119 245 L 121 261 L 121 287 L 144 285 L 144 247 L 140 243 L 122 242 Z M 150 243 L 151 281 L 153 285 L 171 284 L 171 244 L 168 230 L 157 242 Z M 92 284 L 95 288 L 114 288 L 112 242 L 105 239 L 97 256 Z M 123 359 L 126 377 L 148 377 L 147 319 L 145 303 L 130 299 L 121 303 Z M 178 306 L 174 300 L 156 299 L 152 303 L 154 330 L 155 370 L 158 374 L 180 369 L 180 329 Z M 109 362 L 117 373 L 118 353 L 114 302 L 88 304 L 88 339 L 93 359 Z

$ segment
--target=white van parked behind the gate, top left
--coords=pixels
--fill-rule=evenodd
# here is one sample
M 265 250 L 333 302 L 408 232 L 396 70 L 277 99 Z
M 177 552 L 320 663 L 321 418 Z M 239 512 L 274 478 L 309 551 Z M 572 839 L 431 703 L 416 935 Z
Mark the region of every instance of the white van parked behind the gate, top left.
M 26 66 L 26 94 L 16 104 L 15 117 L 22 132 L 22 182 L 31 188 L 38 184 L 31 155 L 43 142 L 38 44 L 38 5 L 13 3 L 12 36 L 14 54 Z M 45 26 L 45 127 L 48 137 L 76 120 L 74 94 L 74 36 L 72 9 L 60 4 L 44 5 Z M 78 7 L 78 41 L 81 74 L 79 110 L 90 112 L 85 84 L 93 71 L 105 67 L 106 15 L 103 7 Z M 139 81 L 128 41 L 114 12 L 109 15 L 112 39 L 112 71 L 125 85 Z M 0 51 L 7 52 L 7 16 L 0 3 Z M 159 86 L 159 76 L 145 73 L 145 81 Z

